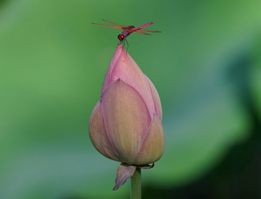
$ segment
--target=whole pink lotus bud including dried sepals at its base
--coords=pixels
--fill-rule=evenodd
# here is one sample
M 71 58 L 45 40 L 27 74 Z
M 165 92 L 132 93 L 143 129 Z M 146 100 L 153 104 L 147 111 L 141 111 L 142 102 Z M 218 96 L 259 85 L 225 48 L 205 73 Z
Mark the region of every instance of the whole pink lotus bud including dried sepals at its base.
M 118 44 L 89 121 L 94 147 L 122 163 L 114 190 L 132 176 L 136 167 L 151 168 L 148 164 L 161 158 L 165 147 L 161 121 L 162 107 L 155 86 Z

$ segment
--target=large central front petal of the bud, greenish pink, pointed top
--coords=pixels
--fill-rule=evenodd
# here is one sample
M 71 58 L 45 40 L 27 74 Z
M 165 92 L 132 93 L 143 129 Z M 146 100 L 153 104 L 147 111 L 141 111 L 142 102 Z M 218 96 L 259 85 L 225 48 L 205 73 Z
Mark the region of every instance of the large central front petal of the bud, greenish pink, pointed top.
M 102 109 L 108 137 L 120 160 L 133 164 L 151 123 L 143 98 L 119 78 L 104 91 Z

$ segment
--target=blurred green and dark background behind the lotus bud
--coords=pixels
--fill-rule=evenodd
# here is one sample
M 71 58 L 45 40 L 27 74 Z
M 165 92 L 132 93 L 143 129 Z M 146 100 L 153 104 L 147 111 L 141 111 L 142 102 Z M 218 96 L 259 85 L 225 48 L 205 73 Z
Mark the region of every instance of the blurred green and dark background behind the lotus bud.
M 166 148 L 143 198 L 261 198 L 260 0 L 0 1 L 0 198 L 129 198 L 88 119 L 128 37 L 157 88 Z M 108 25 L 108 24 L 106 24 Z

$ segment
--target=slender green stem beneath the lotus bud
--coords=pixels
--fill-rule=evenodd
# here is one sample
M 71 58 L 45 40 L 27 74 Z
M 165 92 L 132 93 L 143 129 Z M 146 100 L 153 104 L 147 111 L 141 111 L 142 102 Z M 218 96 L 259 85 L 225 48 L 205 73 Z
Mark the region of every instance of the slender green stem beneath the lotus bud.
M 131 176 L 131 199 L 141 199 L 141 171 L 138 167 Z

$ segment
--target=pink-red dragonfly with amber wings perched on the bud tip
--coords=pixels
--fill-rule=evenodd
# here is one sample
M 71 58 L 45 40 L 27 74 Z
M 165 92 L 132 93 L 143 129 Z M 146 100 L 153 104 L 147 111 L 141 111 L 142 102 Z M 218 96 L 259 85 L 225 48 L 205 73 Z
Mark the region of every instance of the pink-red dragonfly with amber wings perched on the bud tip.
M 103 21 L 106 21 L 106 20 L 103 19 Z M 144 29 L 146 26 L 151 25 L 154 22 L 146 23 L 146 24 L 139 26 L 137 28 L 135 28 L 134 25 L 118 25 L 118 24 L 112 23 L 110 21 L 106 21 L 106 22 L 111 23 L 113 25 L 103 25 L 103 24 L 98 24 L 98 23 L 92 23 L 92 24 L 102 25 L 102 26 L 105 26 L 105 27 L 115 28 L 115 29 L 118 29 L 118 30 L 123 30 L 122 34 L 118 35 L 118 39 L 120 41 L 120 44 L 124 43 L 123 46 L 125 45 L 125 41 L 126 41 L 128 48 L 129 48 L 129 44 L 128 44 L 128 41 L 127 41 L 126 38 L 133 32 L 137 32 L 137 33 L 140 33 L 140 34 L 146 34 L 146 35 L 151 35 L 151 34 L 148 34 L 146 32 L 153 32 L 153 33 L 161 32 L 161 31 L 156 31 L 156 30 Z M 127 51 L 128 51 L 128 48 L 127 48 Z

